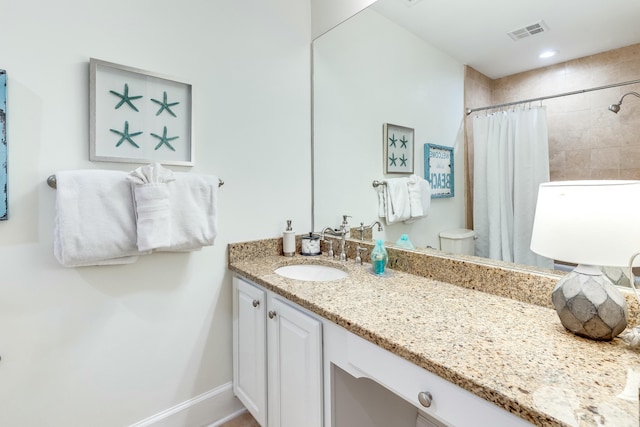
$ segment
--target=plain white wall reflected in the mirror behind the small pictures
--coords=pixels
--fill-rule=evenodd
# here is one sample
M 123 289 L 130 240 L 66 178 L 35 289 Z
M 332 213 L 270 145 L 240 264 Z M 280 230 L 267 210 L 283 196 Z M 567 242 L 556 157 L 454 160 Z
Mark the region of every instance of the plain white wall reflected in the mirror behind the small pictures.
M 352 227 L 377 219 L 371 184 L 385 177 L 382 126 L 392 123 L 415 130 L 422 177 L 425 143 L 456 148 L 455 197 L 432 199 L 427 218 L 374 236 L 395 242 L 407 233 L 416 246 L 438 248 L 439 232 L 465 224 L 463 65 L 372 8 L 313 44 L 315 228 L 335 227 L 343 214 Z

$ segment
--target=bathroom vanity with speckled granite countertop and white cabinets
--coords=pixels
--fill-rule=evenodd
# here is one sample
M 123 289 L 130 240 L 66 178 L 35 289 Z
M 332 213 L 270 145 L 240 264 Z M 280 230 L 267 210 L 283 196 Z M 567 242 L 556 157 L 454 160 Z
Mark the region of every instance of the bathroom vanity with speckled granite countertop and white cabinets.
M 574 336 L 553 309 L 522 301 L 537 301 L 556 277 L 413 252 L 391 253 L 398 268 L 377 277 L 353 258 L 279 256 L 279 244 L 229 246 L 234 390 L 261 425 L 639 424 L 638 352 Z M 348 276 L 274 273 L 304 263 Z M 435 274 L 438 263 L 461 282 L 400 271 L 420 264 Z M 492 291 L 514 277 L 530 289 L 520 301 Z

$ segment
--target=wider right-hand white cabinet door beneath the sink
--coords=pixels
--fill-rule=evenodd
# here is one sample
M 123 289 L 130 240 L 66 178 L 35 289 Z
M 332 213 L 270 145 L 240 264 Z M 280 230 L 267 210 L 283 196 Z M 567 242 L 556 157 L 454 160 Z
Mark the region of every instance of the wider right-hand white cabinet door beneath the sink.
M 269 427 L 322 427 L 322 323 L 277 297 L 268 316 Z

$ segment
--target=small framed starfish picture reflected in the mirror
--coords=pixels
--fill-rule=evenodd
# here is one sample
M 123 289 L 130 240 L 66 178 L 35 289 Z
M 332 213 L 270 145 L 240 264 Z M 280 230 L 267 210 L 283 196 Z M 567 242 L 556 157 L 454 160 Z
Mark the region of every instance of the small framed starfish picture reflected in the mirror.
M 383 133 L 384 173 L 413 173 L 413 129 L 385 123 Z

